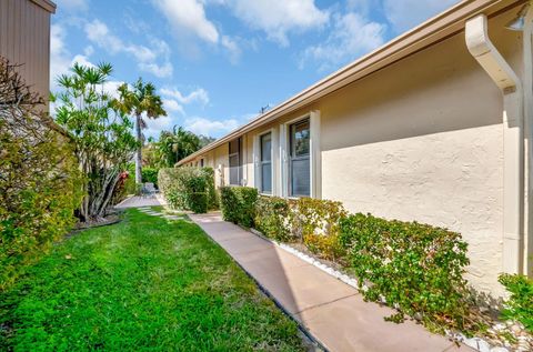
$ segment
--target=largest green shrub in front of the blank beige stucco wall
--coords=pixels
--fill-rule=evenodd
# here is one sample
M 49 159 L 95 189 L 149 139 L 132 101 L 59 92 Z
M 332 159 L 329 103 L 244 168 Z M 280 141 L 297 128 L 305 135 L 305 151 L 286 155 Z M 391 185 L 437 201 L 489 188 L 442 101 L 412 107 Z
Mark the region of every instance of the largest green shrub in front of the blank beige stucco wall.
M 349 252 L 364 298 L 422 314 L 426 323 L 462 329 L 469 264 L 461 235 L 416 222 L 388 221 L 361 213 L 341 219 L 340 243 Z

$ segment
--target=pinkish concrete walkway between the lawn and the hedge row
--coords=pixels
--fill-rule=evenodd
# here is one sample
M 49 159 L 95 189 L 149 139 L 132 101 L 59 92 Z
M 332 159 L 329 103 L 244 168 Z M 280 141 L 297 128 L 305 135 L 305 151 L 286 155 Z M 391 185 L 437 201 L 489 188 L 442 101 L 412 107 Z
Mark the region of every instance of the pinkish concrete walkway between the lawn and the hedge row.
M 330 351 L 473 351 L 408 321 L 385 322 L 393 310 L 364 302 L 352 286 L 251 232 L 220 213 L 190 214 L 249 272 L 278 304 Z

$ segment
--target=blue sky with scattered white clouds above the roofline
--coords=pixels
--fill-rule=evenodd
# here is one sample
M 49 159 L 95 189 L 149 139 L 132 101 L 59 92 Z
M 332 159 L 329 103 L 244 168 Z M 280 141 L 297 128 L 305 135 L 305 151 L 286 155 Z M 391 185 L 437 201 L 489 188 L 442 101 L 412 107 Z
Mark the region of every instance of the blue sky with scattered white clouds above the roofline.
M 142 77 L 163 98 L 169 117 L 147 135 L 179 124 L 218 138 L 457 1 L 56 2 L 52 77 L 110 62 L 110 88 Z

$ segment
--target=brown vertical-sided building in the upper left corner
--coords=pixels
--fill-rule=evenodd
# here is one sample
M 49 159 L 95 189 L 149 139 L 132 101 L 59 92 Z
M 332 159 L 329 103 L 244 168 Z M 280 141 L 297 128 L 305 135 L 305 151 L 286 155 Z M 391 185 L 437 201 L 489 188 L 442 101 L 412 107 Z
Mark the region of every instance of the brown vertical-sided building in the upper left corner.
M 20 64 L 19 72 L 36 92 L 50 94 L 49 0 L 0 0 L 0 56 Z

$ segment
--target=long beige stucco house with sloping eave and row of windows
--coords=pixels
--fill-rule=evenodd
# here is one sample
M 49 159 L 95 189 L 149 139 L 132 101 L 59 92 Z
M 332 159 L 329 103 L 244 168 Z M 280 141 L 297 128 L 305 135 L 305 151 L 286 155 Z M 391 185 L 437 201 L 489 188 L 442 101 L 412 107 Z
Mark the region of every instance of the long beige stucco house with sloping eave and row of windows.
M 524 3 L 463 1 L 179 164 L 459 231 L 467 279 L 501 295 L 500 272 L 533 264 L 532 11 L 505 28 Z

